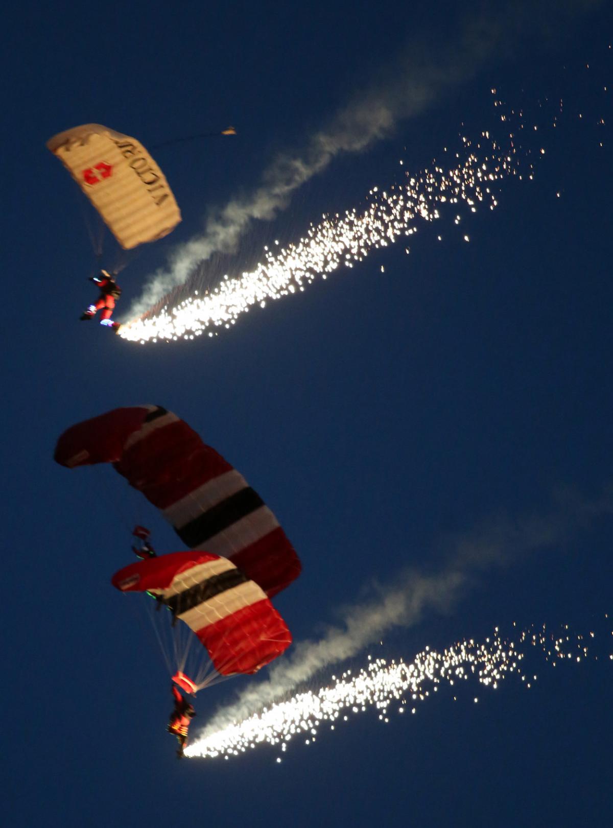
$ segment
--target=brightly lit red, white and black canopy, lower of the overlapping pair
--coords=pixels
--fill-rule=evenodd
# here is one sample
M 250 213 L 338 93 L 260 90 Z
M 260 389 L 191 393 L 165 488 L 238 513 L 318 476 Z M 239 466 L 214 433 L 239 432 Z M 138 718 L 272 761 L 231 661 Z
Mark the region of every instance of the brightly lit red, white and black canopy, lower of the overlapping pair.
M 126 566 L 112 583 L 122 592 L 160 596 L 204 644 L 222 676 L 258 672 L 292 643 L 263 590 L 218 555 L 172 552 Z

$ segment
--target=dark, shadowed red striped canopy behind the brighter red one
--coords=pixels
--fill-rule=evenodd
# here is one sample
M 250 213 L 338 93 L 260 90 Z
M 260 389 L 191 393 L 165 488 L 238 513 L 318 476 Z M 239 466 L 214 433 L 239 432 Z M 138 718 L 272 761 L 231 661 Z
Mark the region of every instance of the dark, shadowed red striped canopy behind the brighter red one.
M 186 546 L 229 558 L 269 597 L 300 574 L 298 556 L 262 498 L 165 408 L 116 408 L 77 423 L 60 436 L 55 459 L 70 469 L 112 463 L 162 509 Z

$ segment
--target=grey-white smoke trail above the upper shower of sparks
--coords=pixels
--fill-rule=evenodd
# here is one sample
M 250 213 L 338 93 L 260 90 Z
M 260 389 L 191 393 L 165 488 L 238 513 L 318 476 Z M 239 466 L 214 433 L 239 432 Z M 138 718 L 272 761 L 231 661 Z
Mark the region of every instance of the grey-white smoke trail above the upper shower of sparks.
M 211 212 L 204 233 L 174 249 L 167 267 L 149 277 L 123 321 L 142 315 L 168 291 L 183 285 L 213 253 L 233 252 L 253 220 L 273 219 L 287 207 L 292 194 L 324 171 L 335 157 L 364 152 L 389 137 L 399 122 L 422 113 L 449 90 L 466 83 L 493 56 L 500 60 L 511 55 L 515 41 L 525 39 L 527 31 L 538 36 L 538 31 L 550 31 L 567 17 L 587 12 L 600 2 L 557 2 L 555 16 L 547 13 L 551 7 L 548 0 L 516 2 L 458 24 L 450 42 L 443 43 L 431 34 L 426 48 L 418 42 L 409 43 L 384 73 L 387 77 L 383 81 L 355 94 L 305 147 L 276 157 L 253 192 Z

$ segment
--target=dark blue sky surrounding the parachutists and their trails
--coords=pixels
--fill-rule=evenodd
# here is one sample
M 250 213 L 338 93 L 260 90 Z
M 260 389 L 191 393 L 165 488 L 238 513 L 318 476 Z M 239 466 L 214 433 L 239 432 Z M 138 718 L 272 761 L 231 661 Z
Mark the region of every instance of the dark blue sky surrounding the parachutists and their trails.
M 613 573 L 602 505 L 613 448 L 611 9 L 566 19 L 547 3 L 528 8 L 509 2 L 487 25 L 463 4 L 407 12 L 380 0 L 25 2 L 8 16 L 9 824 L 611 824 Z M 493 129 L 492 87 L 531 113 L 562 95 L 559 128 L 528 142 L 547 150 L 535 181 L 503 182 L 499 207 L 466 219 L 471 243 L 447 217 L 420 228 L 409 256 L 403 242 L 372 253 L 214 341 L 135 346 L 78 321 L 94 264 L 48 137 L 97 122 L 152 148 L 228 123 L 239 130 L 155 153 L 184 220 L 122 272 L 127 304 L 209 209 L 258 185 L 278 152 L 300 152 L 369 84 L 398 86 L 412 50 L 435 63 L 441 50 L 448 70 L 458 31 L 472 32 L 475 57 L 496 27 L 503 36 L 464 82 L 368 152 L 339 156 L 277 221 L 253 229 L 234 267 L 398 181 L 399 158 L 418 171 L 460 130 Z M 397 630 L 385 655 L 410 660 L 427 644 L 482 640 L 497 623 L 547 622 L 597 626 L 599 662 L 543 667 L 534 691 L 509 680 L 480 705 L 471 691 L 455 704 L 441 693 L 387 729 L 364 714 L 294 746 L 282 765 L 267 749 L 177 763 L 162 660 L 109 578 L 130 562 L 135 522 L 152 527 L 161 550 L 181 546 L 110 469 L 71 474 L 52 461 L 71 423 L 149 402 L 185 418 L 278 515 L 303 562 L 275 601 L 297 641 L 320 635 L 373 581 L 385 590 L 406 566 L 436 573 L 458 539 L 487 537 L 479 527 L 533 518 L 553 522 L 555 542 L 471 572 L 452 609 Z M 203 692 L 199 724 L 247 681 Z

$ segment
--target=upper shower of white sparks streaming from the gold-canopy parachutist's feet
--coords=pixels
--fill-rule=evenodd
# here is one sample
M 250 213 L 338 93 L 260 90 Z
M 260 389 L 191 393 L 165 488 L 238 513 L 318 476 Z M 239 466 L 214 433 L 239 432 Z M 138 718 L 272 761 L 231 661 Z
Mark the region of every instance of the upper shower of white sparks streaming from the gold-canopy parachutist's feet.
M 495 99 L 495 107 L 499 106 L 502 103 Z M 489 131 L 481 132 L 476 142 L 461 136 L 453 166 L 435 161 L 432 168 L 415 176 L 407 173 L 403 183 L 391 185 L 389 190 L 373 187 L 362 212 L 350 209 L 342 215 L 324 214 L 297 244 L 278 248 L 275 243 L 274 251 L 264 248 L 264 260 L 252 272 L 240 277 L 226 275 L 212 291 L 200 291 L 202 295 L 194 291 L 176 306 L 166 305 L 156 314 L 132 320 L 119 335 L 142 344 L 194 339 L 202 334 L 215 336 L 254 306 L 263 308 L 268 301 L 304 291 L 317 277 L 326 279 L 341 266 L 354 267 L 373 250 L 399 238 L 412 238 L 420 222 L 441 219 L 443 211 L 451 215 L 454 224 L 461 224 L 464 216 L 475 213 L 478 207 L 495 209 L 504 178 L 533 179 L 533 163 L 529 161 L 532 153 L 521 150 L 516 137 L 524 130 L 524 113 L 511 110 L 500 114 L 500 122 L 505 128 L 517 124 L 506 134 L 504 146 Z M 537 155 L 543 153 L 539 148 Z M 524 174 L 520 172 L 520 159 L 526 164 Z M 466 242 L 470 240 L 468 234 L 462 236 Z

